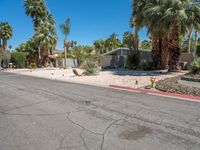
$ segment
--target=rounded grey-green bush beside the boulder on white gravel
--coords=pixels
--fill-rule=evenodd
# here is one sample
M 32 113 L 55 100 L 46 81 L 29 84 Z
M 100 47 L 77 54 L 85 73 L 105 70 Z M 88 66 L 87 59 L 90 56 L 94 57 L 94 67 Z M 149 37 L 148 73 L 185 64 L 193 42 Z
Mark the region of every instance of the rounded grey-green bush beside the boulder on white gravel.
M 97 75 L 100 71 L 98 64 L 94 61 L 87 60 L 82 64 L 82 68 L 85 70 L 85 75 Z

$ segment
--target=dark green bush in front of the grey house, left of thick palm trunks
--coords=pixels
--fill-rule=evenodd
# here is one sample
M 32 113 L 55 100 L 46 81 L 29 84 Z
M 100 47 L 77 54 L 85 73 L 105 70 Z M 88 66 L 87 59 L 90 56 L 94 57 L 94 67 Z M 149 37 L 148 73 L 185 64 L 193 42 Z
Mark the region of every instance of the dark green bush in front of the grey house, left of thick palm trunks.
M 139 64 L 140 64 L 139 53 L 134 53 L 134 54 L 128 55 L 128 58 L 126 60 L 126 65 L 129 69 L 137 69 Z

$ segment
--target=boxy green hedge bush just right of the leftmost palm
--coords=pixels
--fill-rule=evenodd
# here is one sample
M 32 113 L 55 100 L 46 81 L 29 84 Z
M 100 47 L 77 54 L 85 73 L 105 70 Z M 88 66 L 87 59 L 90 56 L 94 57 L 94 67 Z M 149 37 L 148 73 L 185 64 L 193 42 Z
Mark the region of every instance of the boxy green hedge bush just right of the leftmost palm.
M 24 68 L 26 63 L 26 53 L 23 52 L 13 52 L 12 60 L 18 68 Z

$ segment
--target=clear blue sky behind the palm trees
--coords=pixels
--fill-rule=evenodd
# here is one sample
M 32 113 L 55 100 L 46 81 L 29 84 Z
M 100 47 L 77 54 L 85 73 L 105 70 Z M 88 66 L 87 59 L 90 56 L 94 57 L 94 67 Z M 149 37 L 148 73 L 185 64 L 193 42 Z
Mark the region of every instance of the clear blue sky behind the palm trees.
M 59 36 L 57 48 L 63 47 L 62 32 L 59 29 L 67 17 L 71 18 L 69 40 L 78 44 L 92 45 L 94 40 L 104 39 L 113 32 L 122 38 L 129 31 L 131 0 L 46 0 L 56 20 Z M 23 0 L 0 0 L 0 22 L 8 21 L 14 28 L 9 44 L 17 47 L 33 35 L 33 23 L 25 15 Z M 140 39 L 146 39 L 146 30 L 140 32 Z

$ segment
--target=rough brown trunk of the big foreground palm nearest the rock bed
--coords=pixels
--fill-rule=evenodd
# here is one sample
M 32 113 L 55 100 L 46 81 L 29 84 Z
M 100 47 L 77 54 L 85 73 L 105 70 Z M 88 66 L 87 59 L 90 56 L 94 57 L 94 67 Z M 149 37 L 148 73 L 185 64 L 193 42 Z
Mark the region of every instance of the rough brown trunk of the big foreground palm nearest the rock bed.
M 180 47 L 179 47 L 179 35 L 180 35 L 180 28 L 179 25 L 174 24 L 170 33 L 169 33 L 169 71 L 170 72 L 179 72 L 180 66 Z

